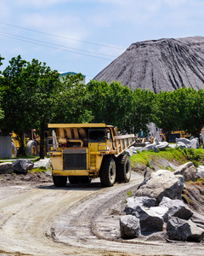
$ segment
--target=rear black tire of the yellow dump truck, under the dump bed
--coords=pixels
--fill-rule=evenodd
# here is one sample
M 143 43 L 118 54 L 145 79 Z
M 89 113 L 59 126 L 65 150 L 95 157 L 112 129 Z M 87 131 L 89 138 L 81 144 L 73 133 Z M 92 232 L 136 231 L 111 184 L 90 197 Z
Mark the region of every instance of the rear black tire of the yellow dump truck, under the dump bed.
M 119 183 L 128 183 L 131 177 L 130 160 L 127 154 L 121 154 L 116 160 L 116 179 Z

